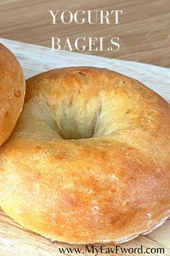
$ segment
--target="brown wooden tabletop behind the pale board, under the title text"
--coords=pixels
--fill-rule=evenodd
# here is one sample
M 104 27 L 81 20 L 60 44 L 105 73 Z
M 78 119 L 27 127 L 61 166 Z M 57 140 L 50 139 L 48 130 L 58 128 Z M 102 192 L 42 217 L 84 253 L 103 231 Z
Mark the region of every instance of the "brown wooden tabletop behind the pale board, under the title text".
M 122 9 L 120 25 L 51 25 L 49 9 Z M 109 58 L 140 61 L 170 67 L 169 0 L 1 0 L 0 37 L 51 46 L 50 37 L 104 37 L 109 46 L 112 36 L 120 37 L 120 51 L 84 52 Z M 62 43 L 62 46 L 64 43 Z

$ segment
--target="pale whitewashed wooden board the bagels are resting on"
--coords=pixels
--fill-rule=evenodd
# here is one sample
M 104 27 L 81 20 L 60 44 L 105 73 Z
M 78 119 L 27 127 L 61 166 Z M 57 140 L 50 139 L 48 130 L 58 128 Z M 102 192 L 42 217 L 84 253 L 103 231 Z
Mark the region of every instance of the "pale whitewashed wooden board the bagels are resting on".
M 130 77 L 140 80 L 148 87 L 155 90 L 158 94 L 170 101 L 170 69 L 156 67 L 148 64 L 140 64 L 137 62 L 120 61 L 116 59 L 106 59 L 97 56 L 87 56 L 84 54 L 75 54 L 66 51 L 51 51 L 50 48 L 34 46 L 27 43 L 20 43 L 12 40 L 0 38 L 0 42 L 4 43 L 19 59 L 25 77 L 31 77 L 39 72 L 48 69 L 59 67 L 73 66 L 94 66 L 106 67 L 108 69 L 121 72 Z M 31 196 L 31 195 L 30 195 Z M 0 202 L 1 203 L 1 202 Z M 27 218 L 27 216 L 26 216 Z M 121 244 L 121 248 L 141 247 L 145 250 L 147 247 L 155 248 L 154 255 L 170 255 L 170 220 L 167 220 L 164 225 L 151 232 L 146 236 L 138 236 L 131 242 Z M 86 252 L 84 245 L 65 244 L 61 242 L 51 242 L 50 239 L 45 239 L 43 236 L 35 234 L 31 231 L 23 229 L 22 226 L 15 223 L 11 218 L 0 210 L 0 256 L 48 256 L 48 255 L 63 255 L 60 249 L 79 247 L 81 252 L 72 253 L 66 252 L 65 255 L 95 255 L 95 248 L 99 249 L 101 244 L 94 244 L 94 253 Z M 114 245 L 105 244 L 106 247 Z M 105 249 L 106 249 L 105 247 Z M 104 247 L 103 247 L 104 248 Z M 164 248 L 164 253 L 156 252 L 158 248 Z M 107 251 L 108 252 L 108 251 Z M 106 253 L 106 252 L 105 252 Z M 104 252 L 99 252 L 98 255 L 104 255 Z M 108 255 L 108 253 L 107 253 Z M 147 253 L 138 254 L 127 252 L 110 252 L 110 255 L 147 255 Z

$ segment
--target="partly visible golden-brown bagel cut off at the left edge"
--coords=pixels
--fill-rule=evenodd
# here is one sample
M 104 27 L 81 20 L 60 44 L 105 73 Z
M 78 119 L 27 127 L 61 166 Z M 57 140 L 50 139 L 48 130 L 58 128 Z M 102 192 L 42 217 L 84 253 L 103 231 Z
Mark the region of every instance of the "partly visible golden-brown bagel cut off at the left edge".
M 9 138 L 24 104 L 25 82 L 19 62 L 0 43 L 0 146 Z

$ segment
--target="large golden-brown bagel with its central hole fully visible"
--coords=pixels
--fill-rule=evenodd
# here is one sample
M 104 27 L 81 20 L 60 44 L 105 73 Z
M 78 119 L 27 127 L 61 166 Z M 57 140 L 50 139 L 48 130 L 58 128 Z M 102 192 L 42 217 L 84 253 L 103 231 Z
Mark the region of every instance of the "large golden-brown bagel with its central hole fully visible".
M 27 80 L 0 149 L 1 207 L 59 242 L 126 242 L 169 217 L 170 108 L 137 80 L 71 67 Z

